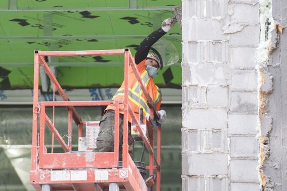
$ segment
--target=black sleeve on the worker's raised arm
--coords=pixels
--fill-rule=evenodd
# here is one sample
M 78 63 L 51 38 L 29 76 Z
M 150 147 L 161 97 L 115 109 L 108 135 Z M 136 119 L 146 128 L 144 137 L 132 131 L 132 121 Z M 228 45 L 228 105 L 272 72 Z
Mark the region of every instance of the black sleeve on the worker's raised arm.
M 139 64 L 142 60 L 145 60 L 149 54 L 149 51 L 153 44 L 155 44 L 166 32 L 160 27 L 158 30 L 154 31 L 147 38 L 145 38 L 139 45 L 134 55 L 134 61 Z

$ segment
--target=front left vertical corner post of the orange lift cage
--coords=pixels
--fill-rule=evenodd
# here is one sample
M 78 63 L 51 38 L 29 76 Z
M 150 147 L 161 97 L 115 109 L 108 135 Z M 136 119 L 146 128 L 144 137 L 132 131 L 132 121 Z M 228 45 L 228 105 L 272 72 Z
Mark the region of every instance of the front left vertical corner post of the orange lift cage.
M 34 53 L 34 86 L 33 86 L 33 129 L 32 129 L 32 149 L 31 149 L 31 170 L 37 169 L 37 123 L 40 108 L 38 107 L 39 93 L 39 54 Z

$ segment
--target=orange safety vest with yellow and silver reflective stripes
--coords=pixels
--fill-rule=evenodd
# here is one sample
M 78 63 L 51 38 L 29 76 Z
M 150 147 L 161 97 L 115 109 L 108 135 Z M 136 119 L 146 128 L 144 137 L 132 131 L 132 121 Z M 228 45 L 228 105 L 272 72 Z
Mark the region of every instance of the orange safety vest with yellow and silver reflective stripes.
M 154 83 L 153 78 L 149 76 L 148 71 L 146 70 L 145 63 L 146 59 L 137 64 L 136 67 L 143 84 L 145 84 L 150 97 L 156 105 L 156 109 L 159 110 L 161 106 L 162 93 L 160 88 Z M 116 91 L 112 100 L 124 101 L 124 82 Z M 147 99 L 140 88 L 140 84 L 137 81 L 131 66 L 129 66 L 128 68 L 128 100 L 131 109 L 137 119 L 139 119 L 139 108 L 142 108 L 144 117 L 150 115 L 150 108 L 148 107 Z M 115 110 L 115 106 L 109 105 L 106 110 Z M 123 112 L 120 113 L 123 114 Z M 132 122 L 130 115 L 128 115 L 128 121 L 130 123 Z

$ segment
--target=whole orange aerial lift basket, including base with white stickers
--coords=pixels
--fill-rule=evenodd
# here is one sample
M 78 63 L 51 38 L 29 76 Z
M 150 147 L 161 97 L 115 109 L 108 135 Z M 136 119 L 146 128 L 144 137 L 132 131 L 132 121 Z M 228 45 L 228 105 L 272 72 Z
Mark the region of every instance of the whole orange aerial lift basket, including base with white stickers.
M 124 100 L 123 101 L 70 101 L 59 82 L 45 62 L 44 56 L 88 56 L 88 55 L 124 55 Z M 39 66 L 42 66 L 53 83 L 53 101 L 39 102 Z M 147 134 L 142 130 L 139 119 L 134 115 L 128 100 L 128 68 L 132 67 L 142 92 L 148 98 L 151 109 L 146 120 Z M 38 51 L 34 52 L 34 90 L 33 90 L 33 130 L 30 182 L 36 190 L 160 190 L 160 152 L 161 127 L 157 128 L 157 157 L 154 153 L 153 120 L 158 119 L 155 104 L 143 84 L 129 49 L 87 50 L 87 51 Z M 62 101 L 55 101 L 55 89 Z M 72 151 L 73 121 L 78 127 L 78 138 L 82 137 L 83 128 L 88 127 L 75 107 L 115 106 L 114 152 L 95 153 L 92 150 Z M 52 119 L 48 117 L 46 108 L 53 108 Z M 67 108 L 67 140 L 55 127 L 55 107 Z M 119 164 L 119 112 L 123 112 L 123 145 L 122 162 Z M 128 116 L 131 116 L 135 130 L 138 131 L 145 147 L 149 151 L 150 177 L 145 180 L 135 162 L 128 154 Z M 50 116 L 51 117 L 51 116 Z M 38 127 L 39 126 L 39 127 Z M 51 149 L 47 149 L 45 129 L 51 132 Z M 87 134 L 87 132 L 86 132 Z M 54 138 L 59 142 L 63 152 L 54 152 Z M 75 147 L 74 147 L 75 149 Z M 156 178 L 153 175 L 156 170 Z

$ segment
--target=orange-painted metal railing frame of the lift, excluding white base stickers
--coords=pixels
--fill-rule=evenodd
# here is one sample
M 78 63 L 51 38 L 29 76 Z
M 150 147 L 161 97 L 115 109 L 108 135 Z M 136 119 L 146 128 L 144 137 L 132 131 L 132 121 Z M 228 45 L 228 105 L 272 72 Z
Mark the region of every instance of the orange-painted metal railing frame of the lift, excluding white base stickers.
M 43 56 L 87 56 L 87 55 L 111 55 L 111 54 L 124 54 L 124 101 L 82 101 L 73 102 L 68 99 L 64 90 L 60 86 L 59 82 L 53 75 L 49 66 L 45 62 Z M 53 98 L 55 97 L 55 88 L 58 94 L 61 96 L 63 101 L 53 102 L 38 102 L 39 95 L 39 63 L 44 68 L 48 77 L 54 85 L 53 88 Z M 151 109 L 150 120 L 147 120 L 147 127 L 149 138 L 143 133 L 139 125 L 139 120 L 134 115 L 128 100 L 128 68 L 129 65 L 132 67 L 133 72 L 140 84 L 143 94 L 148 100 L 148 106 Z M 81 180 L 80 182 L 122 182 L 122 184 L 128 190 L 147 190 L 141 175 L 139 174 L 136 166 L 134 165 L 131 157 L 128 154 L 128 115 L 131 116 L 133 123 L 137 127 L 137 130 L 145 144 L 147 150 L 150 153 L 150 165 L 147 169 L 150 171 L 150 175 L 153 174 L 154 169 L 157 170 L 157 190 L 160 190 L 160 147 L 161 147 L 161 127 L 158 127 L 158 147 L 157 147 L 157 158 L 154 155 L 154 135 L 153 135 L 153 123 L 154 119 L 158 119 L 157 110 L 155 104 L 149 93 L 143 84 L 140 75 L 137 71 L 136 65 L 132 58 L 129 49 L 119 49 L 119 50 L 88 50 L 88 51 L 35 51 L 34 54 L 34 90 L 33 90 L 33 130 L 32 130 L 32 153 L 31 153 L 31 172 L 30 180 L 34 187 L 39 190 L 41 184 L 51 183 L 49 180 L 49 173 L 52 169 L 77 169 L 85 168 L 88 169 L 87 173 L 90 175 L 86 180 Z M 72 123 L 73 120 L 78 126 L 78 136 L 82 137 L 83 126 L 86 122 L 82 121 L 81 117 L 77 113 L 75 107 L 77 106 L 115 106 L 115 137 L 114 137 L 114 152 L 105 153 L 94 153 L 94 152 L 70 152 L 72 149 L 71 137 Z M 53 107 L 53 120 L 51 121 L 45 113 L 46 107 Z M 54 126 L 54 109 L 55 107 L 66 107 L 68 110 L 68 129 L 67 137 L 68 141 L 65 143 L 56 127 Z M 95 172 L 95 168 L 111 168 L 118 167 L 118 146 L 119 146 L 119 112 L 123 112 L 123 161 L 122 169 L 128 169 L 130 171 L 130 176 L 125 177 L 120 174 L 120 171 L 115 169 L 110 169 L 110 174 L 115 174 L 114 176 L 109 176 L 106 181 L 95 180 L 98 172 Z M 38 120 L 40 120 L 39 128 L 39 139 L 38 139 Z M 45 140 L 45 124 L 50 129 L 52 133 L 52 146 L 51 153 L 47 153 L 47 149 L 44 145 Z M 65 153 L 53 153 L 54 137 L 59 142 Z M 154 166 L 155 163 L 155 166 Z M 72 183 L 73 181 L 65 180 L 54 181 L 53 183 Z M 74 183 L 77 181 L 74 181 Z M 79 180 L 78 180 L 79 183 Z M 144 185 L 143 185 L 144 184 Z M 98 185 L 99 186 L 99 185 Z M 74 187 L 74 186 L 73 186 Z M 80 186 L 79 186 L 80 187 Z

